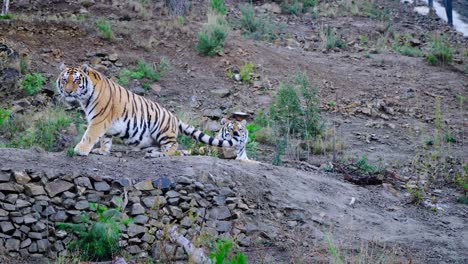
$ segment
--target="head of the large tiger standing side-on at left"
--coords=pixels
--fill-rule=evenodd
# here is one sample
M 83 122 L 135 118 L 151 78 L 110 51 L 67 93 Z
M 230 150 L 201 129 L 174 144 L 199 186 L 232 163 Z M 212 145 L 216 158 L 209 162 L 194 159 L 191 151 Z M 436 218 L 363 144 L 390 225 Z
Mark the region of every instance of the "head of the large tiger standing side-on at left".
M 93 83 L 88 76 L 89 67 L 86 64 L 79 67 L 66 67 L 62 64 L 60 70 L 57 90 L 66 101 L 83 101 L 91 96 Z

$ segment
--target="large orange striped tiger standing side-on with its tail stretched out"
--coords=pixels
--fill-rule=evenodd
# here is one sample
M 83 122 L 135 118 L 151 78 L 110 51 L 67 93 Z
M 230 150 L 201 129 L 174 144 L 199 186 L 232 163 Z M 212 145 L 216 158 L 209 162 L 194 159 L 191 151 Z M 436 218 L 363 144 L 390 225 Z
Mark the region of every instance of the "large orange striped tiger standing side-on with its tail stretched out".
M 78 101 L 88 121 L 88 128 L 74 149 L 77 155 L 87 156 L 91 151 L 109 154 L 113 136 L 122 138 L 136 150 L 148 150 L 146 157 L 173 155 L 179 131 L 212 146 L 229 147 L 239 142 L 238 132 L 229 140 L 203 134 L 158 103 L 128 91 L 87 65 L 62 65 L 60 69 L 57 79 L 60 95 L 66 101 Z M 98 141 L 101 147 L 92 150 Z

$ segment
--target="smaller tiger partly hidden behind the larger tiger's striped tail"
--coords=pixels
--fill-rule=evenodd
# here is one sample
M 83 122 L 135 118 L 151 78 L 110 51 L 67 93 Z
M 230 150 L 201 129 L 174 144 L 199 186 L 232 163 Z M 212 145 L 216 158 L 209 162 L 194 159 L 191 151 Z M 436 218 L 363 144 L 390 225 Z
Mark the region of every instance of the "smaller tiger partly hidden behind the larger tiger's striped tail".
M 221 119 L 221 129 L 216 136 L 222 140 L 231 140 L 237 134 L 239 137 L 239 143 L 235 146 L 237 160 L 249 160 L 247 157 L 247 141 L 249 140 L 249 131 L 245 127 L 246 121 L 228 120 L 226 118 Z

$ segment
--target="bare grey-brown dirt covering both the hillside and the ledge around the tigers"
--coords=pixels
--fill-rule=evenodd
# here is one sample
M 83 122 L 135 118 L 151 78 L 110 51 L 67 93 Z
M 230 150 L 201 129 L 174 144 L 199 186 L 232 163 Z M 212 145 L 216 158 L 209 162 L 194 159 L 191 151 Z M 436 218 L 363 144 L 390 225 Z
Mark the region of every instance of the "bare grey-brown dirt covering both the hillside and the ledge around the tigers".
M 23 2 L 12 4 L 12 11 L 22 14 L 20 18 L 0 20 L 0 38 L 27 54 L 31 68 L 44 73 L 51 89 L 55 89 L 53 83 L 61 62 L 89 64 L 96 53 L 103 52 L 118 54 L 119 62 L 128 67 L 137 59 L 157 62 L 165 57 L 172 69 L 158 82 L 161 91 L 150 91 L 147 97 L 177 113 L 191 112 L 196 116 L 216 109 L 226 115 L 238 110 L 255 114 L 273 100 L 281 81 L 301 70 L 320 89 L 321 115 L 329 128 L 336 125 L 345 146 L 343 157 L 366 155 L 371 162 L 391 168 L 407 180 L 419 179 L 411 167 L 419 155 L 418 147 L 435 133 L 438 97 L 443 125 L 456 138 L 449 154 L 457 168 L 467 159 L 467 104 L 460 106 L 458 98 L 468 96 L 468 75 L 463 72 L 464 63 L 468 62 L 462 55 L 468 49 L 468 39 L 450 31 L 440 20 L 413 13 L 399 1 L 376 1 L 382 8 L 392 10 L 391 28 L 402 35 L 412 34 L 423 48 L 428 47 L 429 36 L 436 34 L 436 30 L 445 32 L 456 49 L 452 65 L 429 66 L 422 57 L 406 57 L 391 48 L 381 51 L 360 43 L 361 35 L 369 36 L 371 43 L 377 43 L 385 35 L 377 29 L 379 21 L 364 16 L 312 19 L 310 15 L 269 14 L 276 21 L 286 23 L 289 34 L 283 39 L 259 42 L 233 30 L 222 56 L 210 58 L 199 56 L 194 49 L 207 1 L 194 5 L 183 26 L 167 18 L 163 1 L 156 1 L 148 11 L 150 14 L 126 5 L 131 1 L 110 1 L 113 5 L 94 1 L 95 4 L 86 8 L 79 1 L 27 1 L 29 5 Z M 234 10 L 229 17 L 236 17 L 238 1 L 227 3 Z M 94 19 L 100 16 L 111 21 L 115 40 L 106 41 L 97 36 Z M 322 50 L 320 29 L 324 24 L 340 30 L 348 43 L 345 49 Z M 306 43 L 310 48 L 304 47 Z M 226 69 L 247 62 L 255 64 L 260 80 L 268 84 L 266 89 L 239 84 L 226 77 Z M 119 71 L 118 67 L 109 67 L 106 74 L 116 76 Z M 221 88 L 229 94 L 220 97 L 213 93 Z M 391 114 L 376 107 L 382 100 L 393 109 Z M 331 101 L 334 107 L 329 107 Z M 0 150 L 0 161 L 9 167 L 66 167 L 113 177 L 133 177 L 135 167 L 141 168 L 138 177 L 142 178 L 171 176 L 175 172 L 190 177 L 212 175 L 221 180 L 234 177 L 245 186 L 246 195 L 260 199 L 259 206 L 265 206 L 257 216 L 259 221 L 265 215 L 273 221 L 275 206 L 282 212 L 291 206 L 298 209 L 289 211 L 304 213 L 303 224 L 298 227 L 288 227 L 286 219 L 278 221 L 284 239 L 278 239 L 277 244 L 284 251 L 273 248 L 271 254 L 285 259 L 298 255 L 310 261 L 323 261 L 317 256 L 325 254 L 324 237 L 332 234 L 334 240 L 343 242 L 343 247 L 351 251 L 357 250 L 363 241 L 375 241 L 379 247 L 397 249 L 403 260 L 413 263 L 468 261 L 467 207 L 455 202 L 458 191 L 450 186 L 439 186 L 437 191 L 442 195 L 438 199 L 443 210 L 434 214 L 427 208 L 407 204 L 408 197 L 400 191 L 401 186 L 394 186 L 399 190 L 396 192 L 392 191 L 393 187 L 364 188 L 344 182 L 339 175 L 266 165 L 272 159 L 268 147 L 259 150 L 257 159 L 265 163 L 261 165 L 208 157 L 146 161 L 138 154 L 123 153 L 122 158 L 115 155 L 67 158 L 63 153 Z M 329 156 L 314 156 L 307 162 L 320 166 L 328 160 Z M 352 197 L 357 202 L 349 206 Z M 298 237 L 297 234 L 307 235 Z M 306 243 L 303 245 L 302 241 Z M 253 249 L 252 254 L 256 252 Z

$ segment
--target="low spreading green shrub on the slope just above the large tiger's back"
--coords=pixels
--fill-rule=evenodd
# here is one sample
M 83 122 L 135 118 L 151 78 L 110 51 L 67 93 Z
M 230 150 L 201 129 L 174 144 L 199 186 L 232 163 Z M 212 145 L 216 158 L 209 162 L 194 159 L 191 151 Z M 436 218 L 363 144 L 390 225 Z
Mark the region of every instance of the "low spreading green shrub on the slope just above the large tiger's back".
M 135 68 L 131 70 L 123 69 L 119 74 L 117 82 L 120 85 L 127 86 L 132 79 L 159 81 L 162 76 L 169 72 L 170 67 L 169 61 L 166 58 L 162 58 L 158 66 L 152 66 L 145 60 L 139 60 Z

